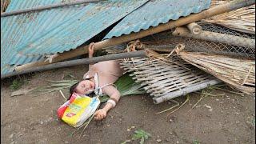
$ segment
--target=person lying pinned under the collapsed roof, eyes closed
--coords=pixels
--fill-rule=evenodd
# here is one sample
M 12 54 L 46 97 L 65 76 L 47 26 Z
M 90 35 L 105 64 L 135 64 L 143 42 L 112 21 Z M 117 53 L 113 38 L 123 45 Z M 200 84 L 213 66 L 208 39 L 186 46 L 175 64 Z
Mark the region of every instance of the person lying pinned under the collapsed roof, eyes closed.
M 91 43 L 88 49 L 89 58 L 92 58 L 94 54 L 94 43 Z M 70 94 L 73 94 L 74 92 L 77 94 L 90 94 L 93 92 L 95 90 L 95 85 L 97 84 L 95 83 L 94 76 L 95 74 L 98 74 L 98 86 L 101 88 L 98 93 L 110 96 L 106 105 L 102 109 L 97 110 L 94 114 L 96 120 L 102 120 L 103 118 L 106 118 L 107 112 L 114 108 L 120 98 L 120 92 L 113 86 L 113 84 L 123 73 L 124 70 L 120 68 L 118 61 L 105 61 L 89 65 L 88 72 L 83 76 L 84 80 L 71 86 Z

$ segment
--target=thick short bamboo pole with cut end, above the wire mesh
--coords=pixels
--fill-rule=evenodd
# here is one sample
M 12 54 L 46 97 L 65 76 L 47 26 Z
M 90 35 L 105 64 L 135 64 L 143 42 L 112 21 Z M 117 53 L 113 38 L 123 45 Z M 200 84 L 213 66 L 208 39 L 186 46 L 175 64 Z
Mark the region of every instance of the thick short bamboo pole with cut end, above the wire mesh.
M 204 30 L 202 30 L 200 34 L 191 34 L 190 31 L 184 27 L 176 27 L 172 34 L 175 36 L 182 36 L 185 38 L 195 38 L 210 42 L 221 42 L 229 45 L 243 46 L 255 49 L 255 39 L 238 37 L 230 34 L 214 33 Z

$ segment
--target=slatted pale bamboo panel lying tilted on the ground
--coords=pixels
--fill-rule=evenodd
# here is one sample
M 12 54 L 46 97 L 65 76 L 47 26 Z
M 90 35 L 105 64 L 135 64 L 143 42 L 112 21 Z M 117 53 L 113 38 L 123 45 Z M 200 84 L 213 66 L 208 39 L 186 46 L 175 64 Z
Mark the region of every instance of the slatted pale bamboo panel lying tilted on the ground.
M 150 58 L 130 58 L 121 63 L 123 69 L 132 72 L 130 76 L 135 82 L 141 82 L 156 104 L 221 82 L 182 58 L 166 56 L 154 54 Z

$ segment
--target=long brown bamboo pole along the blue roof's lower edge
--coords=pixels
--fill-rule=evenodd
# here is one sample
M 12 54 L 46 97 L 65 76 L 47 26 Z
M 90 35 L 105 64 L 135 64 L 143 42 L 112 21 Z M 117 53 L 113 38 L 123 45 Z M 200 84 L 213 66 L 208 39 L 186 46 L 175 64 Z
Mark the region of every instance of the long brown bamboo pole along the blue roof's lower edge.
M 245 6 L 250 6 L 250 5 L 253 5 L 254 3 L 255 3 L 255 0 L 234 0 L 232 2 L 227 2 L 222 5 L 214 6 L 213 8 L 210 8 L 208 10 L 204 10 L 198 14 L 190 14 L 189 16 L 184 18 L 179 18 L 176 21 L 167 22 L 165 24 L 161 24 L 159 26 L 155 26 L 147 30 L 141 30 L 138 33 L 122 35 L 117 38 L 110 38 L 102 42 L 96 42 L 94 45 L 95 46 L 94 50 L 100 50 L 107 46 L 115 46 L 115 45 L 122 44 L 123 42 L 129 42 L 134 39 L 143 38 L 151 34 L 156 34 L 165 30 L 170 30 L 177 26 L 183 26 L 191 22 L 197 22 L 204 18 L 210 18 L 217 14 L 223 14 L 223 13 L 236 10 Z M 81 46 L 75 50 L 70 50 L 68 52 L 59 54 L 58 57 L 54 58 L 52 62 L 60 62 L 69 58 L 77 57 L 82 54 L 87 54 L 88 53 L 87 49 L 88 49 L 88 46 Z M 15 70 L 17 71 L 26 70 L 29 67 L 42 66 L 47 64 L 50 64 L 50 62 L 31 62 L 22 66 L 17 66 Z

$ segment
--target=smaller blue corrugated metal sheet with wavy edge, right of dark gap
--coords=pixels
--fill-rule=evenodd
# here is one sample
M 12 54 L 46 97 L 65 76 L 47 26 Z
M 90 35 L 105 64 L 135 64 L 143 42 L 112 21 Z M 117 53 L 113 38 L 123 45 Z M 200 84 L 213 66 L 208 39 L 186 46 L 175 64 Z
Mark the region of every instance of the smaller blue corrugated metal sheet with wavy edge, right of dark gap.
M 158 26 L 182 16 L 199 13 L 210 7 L 210 2 L 210 0 L 151 0 L 118 22 L 104 39 L 146 30 L 150 26 Z

